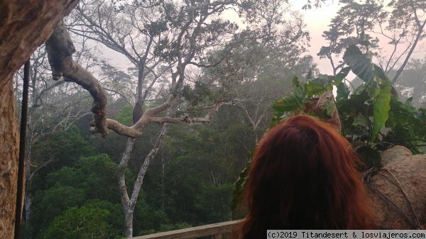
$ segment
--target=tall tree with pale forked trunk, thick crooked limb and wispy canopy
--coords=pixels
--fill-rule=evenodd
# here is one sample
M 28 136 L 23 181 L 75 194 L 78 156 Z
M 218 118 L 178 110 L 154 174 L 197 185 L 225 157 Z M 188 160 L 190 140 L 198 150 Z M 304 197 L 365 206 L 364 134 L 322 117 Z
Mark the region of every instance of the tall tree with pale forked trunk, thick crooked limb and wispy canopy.
M 134 58 L 133 64 L 137 65 L 139 69 L 136 104 L 140 99 L 146 99 L 145 97 L 148 97 L 148 93 L 153 89 L 152 82 L 155 82 L 155 74 L 157 74 L 157 71 L 152 69 L 148 64 L 152 62 L 155 63 L 155 60 L 160 59 L 161 62 L 166 63 L 165 67 L 170 69 L 171 73 L 168 84 L 168 92 L 170 93 L 168 93 L 168 96 L 161 101 L 162 103 L 160 103 L 160 105 L 148 108 L 143 113 L 139 113 L 138 109 L 141 108 L 135 106 L 133 109 L 133 116 L 136 115 L 136 117 L 133 117 L 134 125 L 131 127 L 124 126 L 117 121 L 106 118 L 106 98 L 104 96 L 104 90 L 99 85 L 97 79 L 92 77 L 92 75 L 72 60 L 72 53 L 74 52 L 73 46 L 70 44 L 72 40 L 69 35 L 67 35 L 67 30 L 63 24 L 58 26 L 53 36 L 48 40 L 48 43 L 46 43 L 54 79 L 59 79 L 61 76 L 64 76 L 65 80 L 81 84 L 82 87 L 88 89 L 92 94 L 94 98 L 94 107 L 92 108 L 94 112 L 94 121 L 92 121 L 91 128 L 92 132 L 101 133 L 105 137 L 108 134 L 107 129 L 109 128 L 116 131 L 116 133 L 129 137 L 126 150 L 119 164 L 119 185 L 121 190 L 121 201 L 124 206 L 126 218 L 126 235 L 128 237 L 131 237 L 133 234 L 133 211 L 138 199 L 138 194 L 141 190 L 143 177 L 146 174 L 148 165 L 158 152 L 165 135 L 168 133 L 170 123 L 207 122 L 214 111 L 217 111 L 226 101 L 231 100 L 229 96 L 226 96 L 226 92 L 224 92 L 225 94 L 211 97 L 209 101 L 203 101 L 204 103 L 209 103 L 209 105 L 204 104 L 204 108 L 207 109 L 207 114 L 204 117 L 193 117 L 186 114 L 177 115 L 178 109 L 180 109 L 181 106 L 182 109 L 189 109 L 189 105 L 200 103 L 200 101 L 188 101 L 183 94 L 182 90 L 188 89 L 187 87 L 185 88 L 185 85 L 187 85 L 185 84 L 187 70 L 197 67 L 216 67 L 220 62 L 226 59 L 229 51 L 249 39 L 258 39 L 262 43 L 269 45 L 274 45 L 275 42 L 284 42 L 284 40 L 274 40 L 276 38 L 290 39 L 288 32 L 283 32 L 281 34 L 279 30 L 274 30 L 272 27 L 264 28 L 265 21 L 256 21 L 256 18 L 254 18 L 256 14 L 247 12 L 247 10 L 255 12 L 253 11 L 253 7 L 263 7 L 267 9 L 269 6 L 268 4 L 271 3 L 265 1 L 263 4 L 259 5 L 258 1 L 185 1 L 185 3 L 178 4 L 172 1 L 161 1 L 158 6 L 140 6 L 142 9 L 145 7 L 148 13 L 149 11 L 153 11 L 152 8 L 158 9 L 158 11 L 153 12 L 157 13 L 157 16 L 161 18 L 155 19 L 156 21 L 151 21 L 143 27 L 142 25 L 136 25 L 136 23 L 130 21 L 130 23 L 136 25 L 130 25 L 131 27 L 137 27 L 136 29 L 138 32 L 145 34 L 141 35 L 141 38 L 146 39 L 146 41 L 145 43 L 141 43 L 143 47 L 139 48 L 139 50 L 138 47 L 141 45 L 136 44 L 136 39 L 133 39 L 134 35 L 131 34 L 129 28 L 126 28 L 126 26 L 129 25 L 121 26 L 116 25 L 118 23 L 113 23 L 112 20 L 114 19 L 114 15 L 111 14 L 114 13 L 114 11 L 107 9 L 105 14 L 109 17 L 102 18 L 103 20 L 99 21 L 99 23 L 91 23 L 89 21 L 91 19 L 90 17 L 82 15 L 84 21 L 87 21 L 87 26 L 94 26 L 97 24 L 99 28 L 97 26 L 95 28 L 101 30 L 99 34 L 105 34 L 103 36 L 101 35 L 101 38 L 107 38 L 111 44 L 114 44 L 106 44 L 107 46 L 116 48 L 117 51 L 124 53 L 129 59 L 132 57 Z M 83 6 L 84 5 L 77 7 L 77 11 L 79 8 L 83 11 Z M 253 23 L 244 30 L 239 30 L 235 23 L 220 18 L 226 9 L 236 6 L 239 6 L 239 13 L 241 16 L 250 16 L 249 21 Z M 133 6 L 129 6 L 130 9 L 131 7 Z M 126 9 L 127 6 L 123 6 L 120 14 L 124 14 L 124 12 L 127 11 Z M 90 11 L 89 9 L 89 12 Z M 100 9 L 96 12 L 98 16 L 104 14 L 104 11 L 100 11 Z M 131 12 L 131 16 L 138 16 L 138 14 L 139 13 L 135 13 L 134 11 Z M 73 21 L 70 21 L 70 23 L 73 23 Z M 268 24 L 268 21 L 266 21 L 266 24 Z M 114 32 L 114 34 L 113 32 L 108 33 L 108 30 L 111 30 L 114 26 L 119 26 L 119 31 Z M 270 30 L 265 31 L 264 29 Z M 74 32 L 77 33 L 77 30 L 74 30 Z M 80 34 L 84 34 L 84 30 L 80 31 Z M 115 37 L 118 40 L 114 40 Z M 297 39 L 296 37 L 292 40 L 295 41 Z M 113 41 L 116 42 L 114 43 Z M 126 47 L 129 46 L 127 43 L 132 41 L 133 45 L 127 50 L 128 48 Z M 150 44 L 155 44 L 155 48 L 149 48 L 148 46 Z M 209 51 L 208 56 L 207 50 Z M 130 51 L 132 51 L 132 53 L 128 54 Z M 134 55 L 136 55 L 136 57 Z M 152 59 L 151 62 L 148 61 L 149 59 Z M 143 61 L 141 62 L 141 60 Z M 158 61 L 157 65 L 160 65 L 161 62 Z M 141 70 L 143 70 L 143 72 L 141 72 Z M 143 82 L 141 83 L 141 79 L 144 79 L 143 77 L 146 76 L 144 72 L 147 72 L 147 75 L 151 74 L 150 84 L 144 85 Z M 149 78 L 146 77 L 145 79 Z M 195 84 L 195 86 L 197 86 L 197 84 Z M 143 87 L 145 87 L 145 91 L 141 90 Z M 142 92 L 144 92 L 143 95 L 141 95 Z M 155 113 L 160 112 L 164 112 L 165 116 L 153 116 Z M 131 157 L 133 143 L 135 142 L 134 138 L 142 134 L 141 129 L 148 122 L 160 123 L 162 128 L 158 134 L 158 138 L 155 140 L 151 152 L 149 152 L 145 160 L 143 160 L 133 191 L 129 194 L 126 188 L 124 169 L 126 165 L 128 165 Z

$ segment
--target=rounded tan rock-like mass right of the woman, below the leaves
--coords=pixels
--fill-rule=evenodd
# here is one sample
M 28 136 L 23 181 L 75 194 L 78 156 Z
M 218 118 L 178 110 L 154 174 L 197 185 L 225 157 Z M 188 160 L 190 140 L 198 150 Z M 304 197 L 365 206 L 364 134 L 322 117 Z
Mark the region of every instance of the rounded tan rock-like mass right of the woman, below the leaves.
M 425 229 L 426 155 L 412 155 L 407 148 L 395 146 L 382 153 L 382 165 L 376 174 L 371 174 L 370 187 L 366 183 L 378 225 L 386 229 L 417 229 L 420 224 Z

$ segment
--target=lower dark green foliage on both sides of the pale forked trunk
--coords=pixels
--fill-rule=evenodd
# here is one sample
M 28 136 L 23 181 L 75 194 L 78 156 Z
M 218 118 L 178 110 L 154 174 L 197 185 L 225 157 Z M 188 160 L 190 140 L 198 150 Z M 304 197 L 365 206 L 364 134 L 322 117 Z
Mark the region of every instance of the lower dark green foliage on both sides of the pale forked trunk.
M 212 124 L 170 128 L 138 196 L 133 215 L 135 235 L 229 220 L 234 177 L 250 157 L 246 148 L 254 145 L 253 128 L 239 121 L 226 121 L 236 116 L 226 106 L 214 115 Z M 149 135 L 155 127 L 147 126 L 144 132 Z M 116 142 L 116 138 L 107 140 Z M 138 138 L 138 143 L 141 149 L 137 149 L 130 165 L 140 163 L 138 154 L 146 152 L 139 150 L 147 148 L 151 140 L 145 136 Z M 33 211 L 24 232 L 29 238 L 53 238 L 61 233 L 64 235 L 60 238 L 124 235 L 116 163 L 107 155 L 75 158 L 77 155 L 70 153 L 69 165 L 38 179 L 43 187 L 38 187 L 33 196 Z M 136 174 L 131 169 L 126 172 L 129 187 Z M 78 221 L 81 216 L 97 223 Z

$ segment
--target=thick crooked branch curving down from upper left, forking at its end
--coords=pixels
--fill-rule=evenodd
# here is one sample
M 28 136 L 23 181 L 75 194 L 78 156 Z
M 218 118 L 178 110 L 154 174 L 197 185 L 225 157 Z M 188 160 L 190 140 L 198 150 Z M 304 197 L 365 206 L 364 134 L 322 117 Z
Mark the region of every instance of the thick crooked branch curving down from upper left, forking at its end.
M 217 103 L 212 107 L 212 110 L 204 116 L 204 118 L 189 118 L 187 116 L 180 118 L 153 117 L 156 113 L 160 113 L 170 108 L 175 100 L 175 97 L 170 95 L 168 100 L 163 104 L 160 104 L 160 106 L 147 109 L 133 126 L 124 126 L 118 121 L 107 118 L 107 94 L 105 93 L 104 88 L 101 84 L 99 84 L 97 78 L 87 72 L 87 70 L 72 59 L 75 47 L 72 44 L 72 40 L 63 21 L 60 21 L 53 31 L 52 36 L 50 36 L 49 40 L 46 42 L 46 50 L 48 52 L 50 66 L 52 67 L 53 79 L 58 80 L 63 77 L 65 81 L 75 82 L 91 94 L 94 101 L 92 105 L 94 120 L 90 123 L 92 127 L 89 128 L 89 131 L 91 133 L 101 133 L 102 137 L 106 137 L 108 135 L 108 129 L 111 129 L 119 135 L 137 138 L 142 135 L 141 129 L 148 122 L 209 122 L 212 113 L 217 111 L 219 107 L 224 104 L 224 101 Z

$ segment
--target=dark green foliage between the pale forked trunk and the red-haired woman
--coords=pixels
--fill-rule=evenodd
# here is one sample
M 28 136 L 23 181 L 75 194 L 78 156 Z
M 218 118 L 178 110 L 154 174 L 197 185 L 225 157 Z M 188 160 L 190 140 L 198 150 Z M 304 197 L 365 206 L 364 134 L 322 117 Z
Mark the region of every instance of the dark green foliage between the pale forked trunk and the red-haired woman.
M 229 220 L 235 175 L 250 158 L 246 148 L 255 145 L 253 128 L 229 121 L 235 113 L 224 107 L 211 124 L 170 128 L 145 179 L 147 203 L 166 213 L 161 224 L 199 226 Z M 156 225 L 153 229 L 160 230 Z

